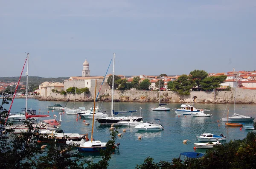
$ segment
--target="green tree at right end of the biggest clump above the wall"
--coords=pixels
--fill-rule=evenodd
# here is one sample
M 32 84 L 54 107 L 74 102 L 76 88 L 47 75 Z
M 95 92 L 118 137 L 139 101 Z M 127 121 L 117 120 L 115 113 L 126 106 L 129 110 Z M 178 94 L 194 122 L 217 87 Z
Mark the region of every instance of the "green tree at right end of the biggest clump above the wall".
M 227 76 L 211 76 L 203 79 L 201 81 L 201 89 L 202 90 L 213 90 L 217 87 L 220 87 L 221 83 L 223 83 L 227 79 Z

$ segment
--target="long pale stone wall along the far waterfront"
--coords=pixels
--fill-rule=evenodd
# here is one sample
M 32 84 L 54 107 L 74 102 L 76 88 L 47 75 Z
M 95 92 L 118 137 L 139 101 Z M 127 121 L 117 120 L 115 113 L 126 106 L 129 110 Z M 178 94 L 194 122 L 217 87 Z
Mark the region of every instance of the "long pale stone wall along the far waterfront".
M 94 89 L 92 82 L 92 88 Z M 101 85 L 101 84 L 99 84 Z M 108 86 L 104 86 L 101 90 L 99 100 L 111 101 L 111 90 L 107 89 Z M 97 90 L 99 89 L 97 83 Z M 194 102 L 198 103 L 234 103 L 235 91 L 214 91 L 214 92 L 191 92 L 188 96 L 180 96 L 177 92 L 172 91 L 160 91 L 161 102 L 179 102 L 179 103 L 192 103 L 193 96 Z M 93 101 L 94 90 L 89 94 L 76 95 L 76 101 Z M 103 97 L 104 96 L 104 97 Z M 73 101 L 74 95 L 70 95 L 70 101 Z M 62 100 L 66 101 L 68 95 L 60 95 L 58 93 L 52 93 L 47 98 L 41 98 L 41 100 Z M 137 91 L 137 90 L 115 90 L 114 100 L 116 101 L 135 101 L 135 102 L 159 102 L 159 91 Z M 236 89 L 236 103 L 243 104 L 256 104 L 256 90 L 248 89 Z

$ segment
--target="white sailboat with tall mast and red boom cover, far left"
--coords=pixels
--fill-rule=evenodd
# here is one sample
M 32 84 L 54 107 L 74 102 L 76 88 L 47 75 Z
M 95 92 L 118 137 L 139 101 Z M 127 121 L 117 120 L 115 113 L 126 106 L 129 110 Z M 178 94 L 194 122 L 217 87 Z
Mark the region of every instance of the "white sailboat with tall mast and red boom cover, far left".
M 23 67 L 24 68 L 24 67 Z M 29 79 L 29 53 L 27 54 L 27 72 L 26 72 L 26 106 L 25 112 L 21 112 L 20 114 L 9 115 L 8 120 L 11 122 L 20 122 L 20 121 L 37 121 L 37 118 L 40 117 L 49 117 L 49 115 L 36 115 L 35 110 L 28 110 L 28 79 Z

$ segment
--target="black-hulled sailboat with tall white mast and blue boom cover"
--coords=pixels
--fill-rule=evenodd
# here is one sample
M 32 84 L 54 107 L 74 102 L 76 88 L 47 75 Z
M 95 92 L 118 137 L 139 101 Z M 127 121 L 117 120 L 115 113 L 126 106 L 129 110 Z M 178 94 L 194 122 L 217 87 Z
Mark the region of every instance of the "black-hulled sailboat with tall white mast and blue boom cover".
M 119 112 L 115 112 L 113 109 L 113 97 L 114 97 L 114 66 L 115 66 L 115 53 L 113 54 L 113 73 L 112 73 L 112 96 L 111 96 L 111 117 L 99 117 L 96 118 L 96 120 L 100 124 L 114 124 L 117 123 L 118 121 L 142 121 L 142 117 L 137 117 L 137 116 L 113 116 L 119 114 Z M 122 113 L 133 113 L 137 112 L 137 110 L 134 111 L 126 111 Z

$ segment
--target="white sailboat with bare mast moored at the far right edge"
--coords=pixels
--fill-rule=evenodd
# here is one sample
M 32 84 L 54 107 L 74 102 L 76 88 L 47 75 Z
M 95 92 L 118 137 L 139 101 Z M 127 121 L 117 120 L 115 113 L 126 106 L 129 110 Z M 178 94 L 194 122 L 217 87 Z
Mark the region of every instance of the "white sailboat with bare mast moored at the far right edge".
M 235 95 L 234 95 L 234 114 L 231 117 L 228 117 L 228 116 L 227 118 L 223 117 L 222 121 L 253 121 L 254 120 L 254 117 L 237 114 L 235 113 L 236 112 L 235 110 L 236 110 L 236 88 L 235 88 Z

